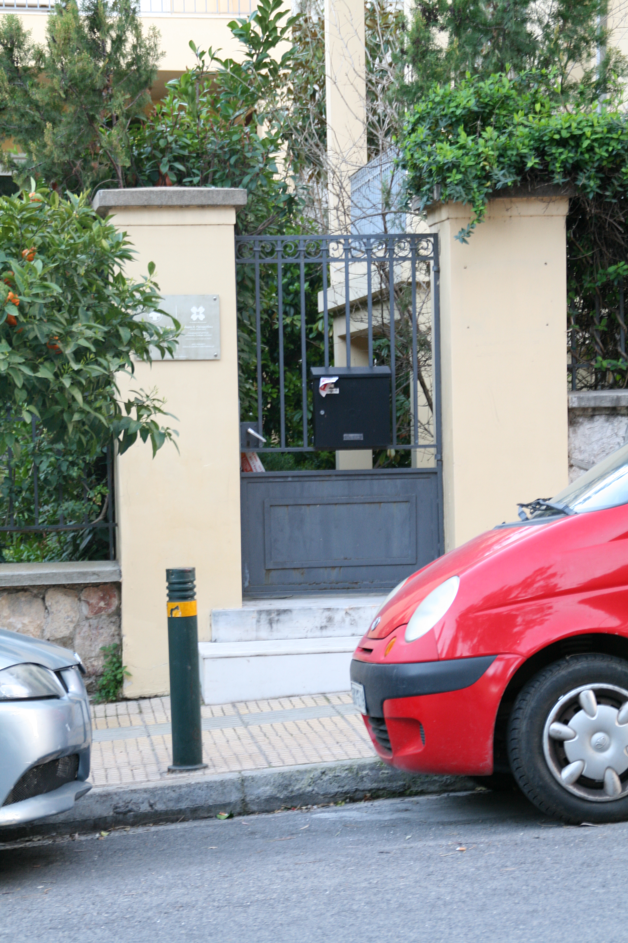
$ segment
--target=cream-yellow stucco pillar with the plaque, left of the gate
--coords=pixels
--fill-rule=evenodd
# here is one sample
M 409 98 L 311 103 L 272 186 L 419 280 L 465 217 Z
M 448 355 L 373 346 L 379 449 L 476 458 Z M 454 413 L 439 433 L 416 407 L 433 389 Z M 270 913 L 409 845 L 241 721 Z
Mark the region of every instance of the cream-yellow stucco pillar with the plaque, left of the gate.
M 156 387 L 166 398 L 180 450 L 166 443 L 153 459 L 137 442 L 117 462 L 127 697 L 169 690 L 168 567 L 196 567 L 201 641 L 212 608 L 242 604 L 233 227 L 246 200 L 245 190 L 185 187 L 101 190 L 94 200 L 135 246 L 129 275 L 153 261 L 162 295 L 211 296 L 219 306 L 214 359 L 137 363 L 135 377 L 120 378 L 122 395 Z

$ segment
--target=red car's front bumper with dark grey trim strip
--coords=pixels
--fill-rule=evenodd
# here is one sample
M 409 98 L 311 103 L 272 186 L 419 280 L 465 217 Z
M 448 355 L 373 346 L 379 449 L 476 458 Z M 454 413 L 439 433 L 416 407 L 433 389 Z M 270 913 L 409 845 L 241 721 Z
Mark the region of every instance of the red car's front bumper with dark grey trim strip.
M 364 723 L 384 762 L 409 772 L 485 776 L 492 772 L 497 709 L 523 660 L 517 654 L 397 665 L 354 659 L 351 680 L 364 687 Z

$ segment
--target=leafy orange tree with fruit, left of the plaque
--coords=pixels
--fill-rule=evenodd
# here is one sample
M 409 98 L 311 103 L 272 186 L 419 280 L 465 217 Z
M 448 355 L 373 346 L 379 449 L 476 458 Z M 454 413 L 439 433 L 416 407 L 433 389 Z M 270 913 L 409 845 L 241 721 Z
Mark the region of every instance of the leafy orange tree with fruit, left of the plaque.
M 156 453 L 173 435 L 163 403 L 141 390 L 122 401 L 116 380 L 151 345 L 176 344 L 176 323 L 138 318 L 159 306 L 153 266 L 126 278 L 124 234 L 85 198 L 54 191 L 0 199 L 0 246 L 0 400 L 12 419 L 35 418 L 55 444 L 72 438 L 88 454 L 110 438 L 124 452 L 137 437 Z M 5 424 L 0 449 L 10 444 Z

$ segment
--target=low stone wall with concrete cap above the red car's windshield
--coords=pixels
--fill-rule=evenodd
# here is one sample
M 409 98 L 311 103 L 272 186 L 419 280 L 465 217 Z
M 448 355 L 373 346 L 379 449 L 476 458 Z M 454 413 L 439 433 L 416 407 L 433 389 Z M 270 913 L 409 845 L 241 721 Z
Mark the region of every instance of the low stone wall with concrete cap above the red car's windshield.
M 569 480 L 628 442 L 628 390 L 569 394 Z

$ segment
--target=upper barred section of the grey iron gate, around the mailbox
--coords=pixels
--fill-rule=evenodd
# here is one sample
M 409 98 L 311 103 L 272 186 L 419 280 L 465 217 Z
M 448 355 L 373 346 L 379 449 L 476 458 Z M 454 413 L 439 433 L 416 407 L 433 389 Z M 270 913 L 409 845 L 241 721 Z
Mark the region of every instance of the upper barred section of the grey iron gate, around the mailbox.
M 389 448 L 440 461 L 436 235 L 243 236 L 235 262 L 241 420 L 267 440 L 256 451 L 314 451 L 310 367 L 383 365 Z

